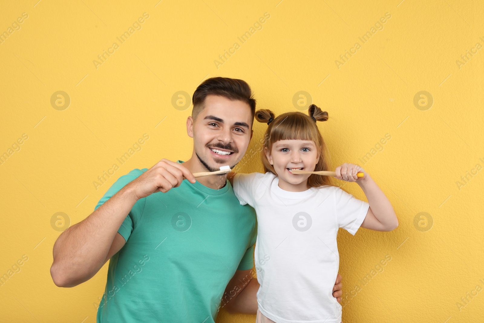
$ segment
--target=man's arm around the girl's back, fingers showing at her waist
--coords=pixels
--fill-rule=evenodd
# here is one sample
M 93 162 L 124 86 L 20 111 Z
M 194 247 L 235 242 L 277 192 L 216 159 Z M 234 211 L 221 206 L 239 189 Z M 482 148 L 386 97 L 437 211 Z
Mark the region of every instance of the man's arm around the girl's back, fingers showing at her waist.
M 230 279 L 222 297 L 221 308 L 225 308 L 229 313 L 257 314 L 257 291 L 259 283 L 257 278 L 252 277 L 253 270 L 237 270 L 234 277 Z M 343 294 L 343 283 L 341 275 L 336 276 L 333 287 L 333 297 L 341 302 Z

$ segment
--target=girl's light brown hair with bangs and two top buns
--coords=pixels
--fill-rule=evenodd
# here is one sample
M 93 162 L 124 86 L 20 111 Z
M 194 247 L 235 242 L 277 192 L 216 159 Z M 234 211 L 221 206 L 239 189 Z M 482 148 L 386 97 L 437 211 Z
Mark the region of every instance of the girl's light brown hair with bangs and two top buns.
M 319 161 L 316 164 L 315 171 L 330 170 L 331 159 L 326 143 L 319 133 L 316 121 L 327 121 L 328 112 L 322 111 L 316 105 L 312 104 L 308 109 L 309 115 L 302 112 L 286 112 L 277 118 L 274 113 L 268 109 L 256 111 L 256 120 L 258 122 L 268 123 L 266 133 L 264 134 L 264 149 L 262 150 L 262 165 L 264 172 L 272 172 L 277 175 L 274 167 L 269 163 L 265 150 L 271 152 L 272 145 L 279 140 L 296 139 L 312 140 L 318 147 Z M 307 180 L 309 187 L 336 186 L 332 176 L 321 176 L 311 174 Z

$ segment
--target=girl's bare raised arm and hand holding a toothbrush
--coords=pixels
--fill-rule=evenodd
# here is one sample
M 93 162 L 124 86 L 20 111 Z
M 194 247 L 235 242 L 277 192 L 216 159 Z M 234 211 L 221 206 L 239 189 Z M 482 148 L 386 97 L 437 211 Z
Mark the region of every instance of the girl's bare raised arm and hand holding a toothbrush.
M 370 207 L 361 225 L 362 228 L 375 231 L 392 231 L 398 227 L 398 219 L 392 204 L 373 181 L 367 172 L 363 177 L 356 177 L 356 173 L 363 169 L 354 164 L 343 164 L 336 168 L 336 178 L 347 182 L 356 182 L 363 189 Z

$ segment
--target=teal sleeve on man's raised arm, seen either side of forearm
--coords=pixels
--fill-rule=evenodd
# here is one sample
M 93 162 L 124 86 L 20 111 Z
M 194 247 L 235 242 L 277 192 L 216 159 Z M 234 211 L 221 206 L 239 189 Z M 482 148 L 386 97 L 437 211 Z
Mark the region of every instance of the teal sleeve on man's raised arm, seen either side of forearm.
M 94 207 L 94 211 L 97 210 L 101 205 L 103 205 L 107 200 L 109 200 L 114 194 L 118 193 L 121 188 L 125 185 L 136 179 L 139 175 L 144 173 L 148 169 L 133 169 L 126 175 L 122 175 L 116 182 L 114 182 L 111 187 L 107 190 L 106 194 L 97 202 L 96 206 Z M 131 211 L 128 213 L 124 221 L 121 223 L 121 227 L 119 228 L 118 232 L 122 235 L 125 241 L 128 241 L 131 232 L 136 227 L 136 224 L 139 222 L 141 218 L 141 214 L 143 213 L 143 209 L 145 207 L 146 198 L 137 200 Z

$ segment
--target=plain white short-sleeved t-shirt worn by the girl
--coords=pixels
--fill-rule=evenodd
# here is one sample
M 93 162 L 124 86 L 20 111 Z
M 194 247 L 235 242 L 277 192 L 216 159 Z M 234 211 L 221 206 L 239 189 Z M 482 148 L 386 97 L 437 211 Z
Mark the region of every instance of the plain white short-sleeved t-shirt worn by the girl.
M 354 235 L 370 205 L 335 186 L 288 192 L 278 182 L 271 172 L 234 177 L 235 196 L 257 213 L 259 310 L 277 323 L 340 323 L 336 235 Z

